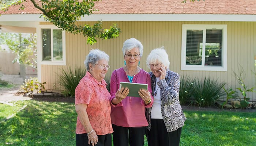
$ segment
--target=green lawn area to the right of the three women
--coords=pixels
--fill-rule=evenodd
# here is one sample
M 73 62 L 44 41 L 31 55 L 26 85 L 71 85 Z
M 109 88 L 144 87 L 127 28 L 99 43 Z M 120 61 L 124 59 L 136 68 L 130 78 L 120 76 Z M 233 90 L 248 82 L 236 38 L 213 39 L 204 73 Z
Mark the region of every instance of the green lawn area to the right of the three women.
M 185 111 L 185 115 L 181 145 L 255 145 L 256 112 Z

